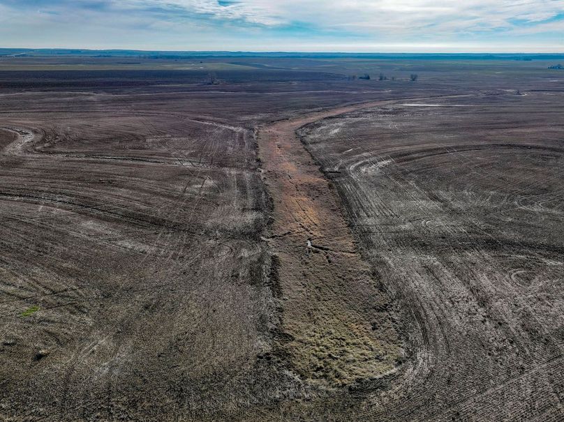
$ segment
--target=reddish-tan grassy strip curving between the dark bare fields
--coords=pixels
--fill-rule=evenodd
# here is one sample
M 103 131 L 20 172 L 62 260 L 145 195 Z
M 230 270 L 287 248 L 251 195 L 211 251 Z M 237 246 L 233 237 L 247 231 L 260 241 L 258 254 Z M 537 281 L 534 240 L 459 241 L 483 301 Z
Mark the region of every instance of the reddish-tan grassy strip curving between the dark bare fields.
M 274 201 L 269 246 L 279 258 L 281 352 L 299 375 L 329 386 L 389 374 L 403 351 L 386 311 L 389 302 L 359 255 L 336 195 L 295 131 L 381 104 L 279 121 L 262 128 L 258 137 Z

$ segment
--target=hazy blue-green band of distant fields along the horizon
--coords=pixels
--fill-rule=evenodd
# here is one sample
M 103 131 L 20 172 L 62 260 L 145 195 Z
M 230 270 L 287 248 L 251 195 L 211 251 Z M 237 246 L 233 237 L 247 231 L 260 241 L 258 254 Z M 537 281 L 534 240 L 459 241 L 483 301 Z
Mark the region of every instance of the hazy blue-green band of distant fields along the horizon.
M 535 57 L 530 61 L 516 59 L 491 59 L 445 56 L 440 59 L 390 59 L 386 55 L 378 58 L 357 56 L 323 57 L 311 56 L 302 59 L 278 56 L 178 56 L 163 59 L 159 56 L 0 56 L 1 70 L 262 70 L 284 69 L 334 73 L 343 76 L 366 73 L 378 80 L 383 73 L 406 79 L 413 72 L 424 72 L 438 80 L 459 80 L 461 77 L 488 77 L 507 80 L 506 77 L 539 77 L 542 70 L 564 61 L 564 56 L 547 59 Z M 551 70 L 557 73 L 558 70 Z

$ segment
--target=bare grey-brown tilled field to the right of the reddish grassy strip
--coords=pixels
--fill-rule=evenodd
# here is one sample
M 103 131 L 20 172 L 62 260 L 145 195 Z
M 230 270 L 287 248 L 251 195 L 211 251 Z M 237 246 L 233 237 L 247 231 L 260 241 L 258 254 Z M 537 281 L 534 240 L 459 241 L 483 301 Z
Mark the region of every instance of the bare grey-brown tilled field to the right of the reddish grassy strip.
M 401 101 L 302 130 L 410 345 L 367 419 L 562 420 L 562 99 Z

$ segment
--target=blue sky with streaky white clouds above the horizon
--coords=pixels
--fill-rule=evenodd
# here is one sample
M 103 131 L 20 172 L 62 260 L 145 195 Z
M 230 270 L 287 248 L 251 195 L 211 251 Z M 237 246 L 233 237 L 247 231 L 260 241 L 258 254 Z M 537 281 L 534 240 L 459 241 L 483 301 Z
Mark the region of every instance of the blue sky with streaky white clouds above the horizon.
M 0 0 L 0 47 L 564 52 L 564 0 Z

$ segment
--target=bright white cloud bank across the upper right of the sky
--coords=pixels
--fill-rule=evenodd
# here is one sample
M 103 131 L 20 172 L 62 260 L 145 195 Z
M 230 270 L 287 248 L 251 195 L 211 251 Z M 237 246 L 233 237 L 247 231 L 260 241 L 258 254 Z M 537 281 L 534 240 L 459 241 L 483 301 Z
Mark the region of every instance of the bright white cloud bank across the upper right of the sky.
M 123 3 L 123 2 L 122 2 Z M 394 30 L 405 33 L 510 29 L 515 20 L 542 22 L 564 13 L 563 0 L 128 0 L 130 4 L 177 7 L 217 20 L 279 27 L 304 22 L 320 29 Z M 563 28 L 564 29 L 564 28 Z

